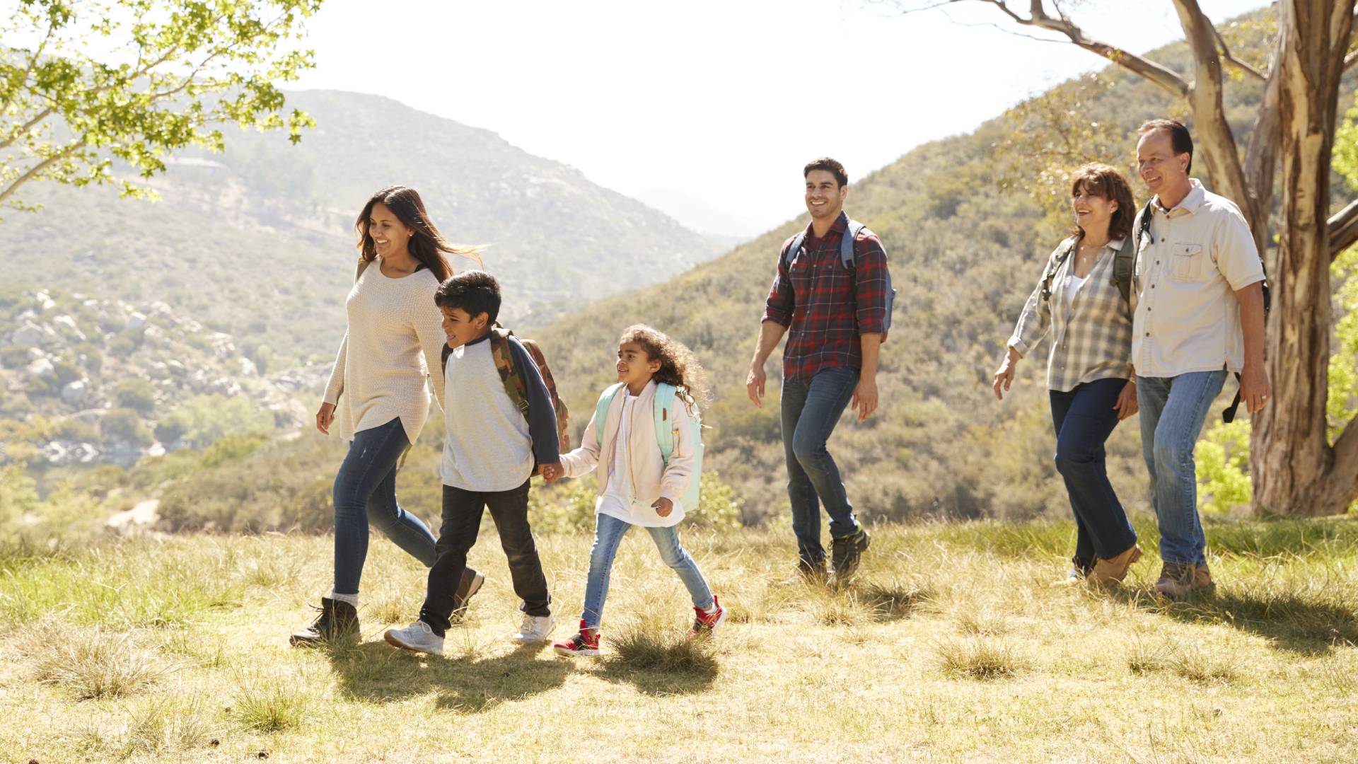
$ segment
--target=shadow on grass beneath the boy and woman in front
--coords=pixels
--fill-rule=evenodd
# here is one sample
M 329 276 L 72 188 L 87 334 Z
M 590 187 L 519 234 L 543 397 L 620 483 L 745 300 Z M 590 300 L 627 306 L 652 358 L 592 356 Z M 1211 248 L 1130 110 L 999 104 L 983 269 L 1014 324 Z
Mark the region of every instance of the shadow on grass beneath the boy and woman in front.
M 452 650 L 456 644 L 449 646 Z M 368 703 L 390 703 L 437 692 L 437 708 L 479 714 L 501 703 L 555 689 L 572 667 L 561 661 L 539 661 L 547 644 L 515 648 L 481 658 L 478 650 L 459 655 L 424 655 L 397 650 L 384 642 L 329 648 L 330 666 L 341 689 Z

